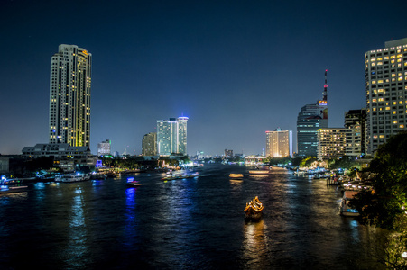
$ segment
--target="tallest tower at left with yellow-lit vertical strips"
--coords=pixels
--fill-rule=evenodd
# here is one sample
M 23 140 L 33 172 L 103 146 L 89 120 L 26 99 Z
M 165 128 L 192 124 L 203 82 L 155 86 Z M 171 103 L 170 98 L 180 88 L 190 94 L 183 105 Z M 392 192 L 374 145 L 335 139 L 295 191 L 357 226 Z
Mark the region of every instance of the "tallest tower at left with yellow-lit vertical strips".
M 50 143 L 89 146 L 92 55 L 76 45 L 51 57 Z

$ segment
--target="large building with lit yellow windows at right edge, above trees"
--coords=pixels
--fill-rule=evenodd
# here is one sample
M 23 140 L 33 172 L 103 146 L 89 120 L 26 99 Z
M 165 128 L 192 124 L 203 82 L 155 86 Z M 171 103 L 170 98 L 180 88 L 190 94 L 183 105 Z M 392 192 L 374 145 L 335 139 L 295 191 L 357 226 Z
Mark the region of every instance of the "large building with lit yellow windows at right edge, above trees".
M 365 53 L 367 153 L 407 125 L 407 38 Z

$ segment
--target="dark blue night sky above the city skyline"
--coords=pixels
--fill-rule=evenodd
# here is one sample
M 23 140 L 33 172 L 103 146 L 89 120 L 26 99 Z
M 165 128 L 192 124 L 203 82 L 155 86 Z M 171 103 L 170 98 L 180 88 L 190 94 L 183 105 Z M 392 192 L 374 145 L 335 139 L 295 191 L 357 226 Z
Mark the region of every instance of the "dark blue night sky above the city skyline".
M 101 4 L 103 2 L 103 4 Z M 365 107 L 365 52 L 407 37 L 400 1 L 0 1 L 0 153 L 48 143 L 51 56 L 92 54 L 90 148 L 141 154 L 188 116 L 188 153 L 262 154 L 321 98 L 328 126 Z M 295 142 L 294 136 L 294 142 Z M 296 144 L 296 142 L 294 143 Z M 294 150 L 296 147 L 294 148 Z

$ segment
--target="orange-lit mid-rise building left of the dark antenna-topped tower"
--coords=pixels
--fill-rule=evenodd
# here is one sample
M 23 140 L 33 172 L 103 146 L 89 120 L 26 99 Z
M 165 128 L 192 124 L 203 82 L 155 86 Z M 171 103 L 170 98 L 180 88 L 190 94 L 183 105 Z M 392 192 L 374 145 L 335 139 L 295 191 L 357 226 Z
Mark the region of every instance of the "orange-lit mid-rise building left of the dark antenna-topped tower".
M 265 131 L 266 157 L 292 157 L 292 131 Z

